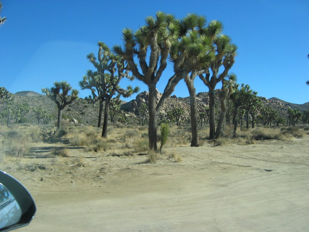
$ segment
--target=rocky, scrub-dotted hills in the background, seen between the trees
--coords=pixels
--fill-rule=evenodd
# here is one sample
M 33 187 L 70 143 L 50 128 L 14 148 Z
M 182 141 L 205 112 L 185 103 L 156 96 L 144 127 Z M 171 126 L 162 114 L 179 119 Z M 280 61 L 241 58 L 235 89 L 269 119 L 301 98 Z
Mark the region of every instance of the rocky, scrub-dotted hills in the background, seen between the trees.
M 219 91 L 219 90 L 216 90 Z M 161 98 L 162 94 L 158 91 L 157 92 L 157 102 Z M 48 97 L 39 94 L 33 91 L 21 91 L 14 94 L 15 100 L 14 105 L 17 106 L 18 104 L 27 103 L 30 109 L 35 107 L 41 106 L 49 114 L 52 114 L 54 118 L 57 115 L 57 107 L 56 104 L 51 101 Z M 264 105 L 269 105 L 274 109 L 278 110 L 281 117 L 287 116 L 287 109 L 289 108 L 298 108 L 300 110 L 309 110 L 309 102 L 298 105 L 293 104 L 290 102 L 282 101 L 278 98 L 271 98 L 266 99 L 265 97 L 260 97 Z M 130 118 L 138 118 L 138 107 L 142 103 L 147 103 L 148 101 L 148 92 L 144 91 L 137 95 L 135 100 L 131 100 L 129 102 L 122 101 L 121 109 L 126 111 L 125 114 L 130 115 Z M 218 97 L 216 97 L 216 101 L 218 102 Z M 197 93 L 197 105 L 198 110 L 200 112 L 205 111 L 205 106 L 209 105 L 209 98 L 207 92 L 199 92 Z M 166 112 L 172 108 L 181 107 L 184 109 L 184 116 L 190 115 L 190 105 L 189 105 L 189 97 L 177 97 L 175 95 L 167 98 L 165 104 L 163 105 L 161 114 L 166 114 Z M 4 110 L 4 105 L 0 104 L 0 113 Z M 65 118 L 75 118 L 79 122 L 87 125 L 95 126 L 98 121 L 98 111 L 99 105 L 98 104 L 90 104 L 87 100 L 79 98 L 74 101 L 71 105 L 66 106 L 63 110 L 63 117 Z M 29 112 L 26 115 L 28 122 L 36 122 L 35 115 L 32 112 Z

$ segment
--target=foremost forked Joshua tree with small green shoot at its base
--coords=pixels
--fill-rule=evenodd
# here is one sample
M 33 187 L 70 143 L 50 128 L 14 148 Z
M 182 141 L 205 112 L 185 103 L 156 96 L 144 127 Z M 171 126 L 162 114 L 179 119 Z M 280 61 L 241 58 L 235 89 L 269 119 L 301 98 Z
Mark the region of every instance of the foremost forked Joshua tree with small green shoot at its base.
M 167 57 L 173 41 L 179 37 L 179 24 L 172 15 L 157 12 L 156 17 L 147 17 L 146 25 L 136 32 L 125 28 L 122 32 L 124 48 L 117 45 L 114 51 L 125 58 L 133 75 L 148 86 L 149 97 L 149 148 L 157 151 L 157 119 L 166 97 L 173 92 L 180 79 L 173 75 L 156 102 L 156 85 L 167 67 Z M 150 50 L 148 52 L 148 50 Z M 134 57 L 137 56 L 138 64 Z M 146 61 L 148 59 L 148 62 Z

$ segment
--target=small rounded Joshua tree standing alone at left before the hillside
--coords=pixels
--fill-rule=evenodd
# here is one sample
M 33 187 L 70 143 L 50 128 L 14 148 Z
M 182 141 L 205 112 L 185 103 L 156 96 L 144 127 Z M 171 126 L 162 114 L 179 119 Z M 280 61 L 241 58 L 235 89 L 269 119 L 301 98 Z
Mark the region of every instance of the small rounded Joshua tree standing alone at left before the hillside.
M 66 81 L 54 82 L 51 88 L 42 88 L 42 93 L 53 100 L 58 108 L 57 130 L 61 127 L 62 110 L 78 98 L 78 90 L 72 89 L 72 86 Z

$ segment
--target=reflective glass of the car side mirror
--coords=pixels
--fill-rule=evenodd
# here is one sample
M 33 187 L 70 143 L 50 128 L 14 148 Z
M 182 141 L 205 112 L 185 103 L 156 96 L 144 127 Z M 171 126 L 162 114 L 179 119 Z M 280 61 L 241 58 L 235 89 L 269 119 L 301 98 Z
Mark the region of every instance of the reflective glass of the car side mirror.
M 17 223 L 21 213 L 14 196 L 0 183 L 0 229 Z

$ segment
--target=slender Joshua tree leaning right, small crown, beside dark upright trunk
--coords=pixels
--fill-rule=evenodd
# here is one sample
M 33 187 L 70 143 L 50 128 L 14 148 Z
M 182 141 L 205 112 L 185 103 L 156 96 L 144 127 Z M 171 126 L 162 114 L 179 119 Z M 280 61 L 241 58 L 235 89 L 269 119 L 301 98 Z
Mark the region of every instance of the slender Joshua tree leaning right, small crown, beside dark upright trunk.
M 220 137 L 222 128 L 224 125 L 224 120 L 226 117 L 226 101 L 230 98 L 231 93 L 233 92 L 233 86 L 236 84 L 237 76 L 235 73 L 230 73 L 226 78 L 222 79 L 222 88 L 218 92 L 218 97 L 220 99 L 221 113 L 218 120 L 218 125 L 216 129 L 216 138 Z

